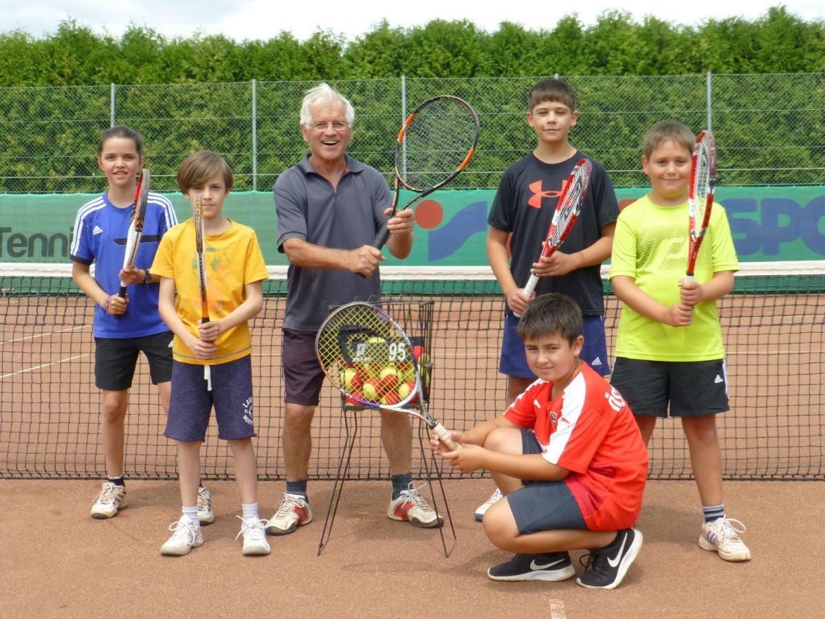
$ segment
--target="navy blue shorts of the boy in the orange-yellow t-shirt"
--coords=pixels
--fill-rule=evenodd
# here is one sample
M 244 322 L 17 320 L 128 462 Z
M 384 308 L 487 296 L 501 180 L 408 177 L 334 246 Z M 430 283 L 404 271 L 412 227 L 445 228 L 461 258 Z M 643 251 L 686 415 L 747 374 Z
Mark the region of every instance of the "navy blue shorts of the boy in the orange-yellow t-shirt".
M 218 437 L 236 441 L 255 436 L 252 425 L 252 356 L 210 366 L 212 390 L 204 366 L 174 361 L 172 398 L 163 435 L 173 441 L 203 441 L 214 405 Z

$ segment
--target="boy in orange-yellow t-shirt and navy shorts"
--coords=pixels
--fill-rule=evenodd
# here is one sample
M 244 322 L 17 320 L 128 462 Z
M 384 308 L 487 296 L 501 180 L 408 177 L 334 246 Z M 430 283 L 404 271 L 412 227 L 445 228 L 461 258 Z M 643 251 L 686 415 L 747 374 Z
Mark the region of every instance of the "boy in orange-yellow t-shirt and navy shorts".
M 158 309 L 175 334 L 172 397 L 164 434 L 177 442 L 183 510 L 169 530 L 163 555 L 186 555 L 203 544 L 197 518 L 200 445 L 212 406 L 219 438 L 229 442 L 241 494 L 244 555 L 268 555 L 266 521 L 258 517 L 257 466 L 252 437 L 252 339 L 248 320 L 261 311 L 266 264 L 255 232 L 221 214 L 232 188 L 232 171 L 210 151 L 187 157 L 177 184 L 188 201 L 201 198 L 210 321 L 200 324 L 200 284 L 192 220 L 163 236 L 152 265 L 161 277 Z M 175 290 L 177 288 L 177 299 Z M 209 365 L 212 389 L 204 380 Z

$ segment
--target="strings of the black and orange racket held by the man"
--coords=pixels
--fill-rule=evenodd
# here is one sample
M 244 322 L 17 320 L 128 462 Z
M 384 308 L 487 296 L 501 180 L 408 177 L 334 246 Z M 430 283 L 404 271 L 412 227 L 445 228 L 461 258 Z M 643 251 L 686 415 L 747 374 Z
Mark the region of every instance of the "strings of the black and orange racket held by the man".
M 477 125 L 471 111 L 436 99 L 418 111 L 399 146 L 398 172 L 410 187 L 433 187 L 459 169 L 473 149 Z

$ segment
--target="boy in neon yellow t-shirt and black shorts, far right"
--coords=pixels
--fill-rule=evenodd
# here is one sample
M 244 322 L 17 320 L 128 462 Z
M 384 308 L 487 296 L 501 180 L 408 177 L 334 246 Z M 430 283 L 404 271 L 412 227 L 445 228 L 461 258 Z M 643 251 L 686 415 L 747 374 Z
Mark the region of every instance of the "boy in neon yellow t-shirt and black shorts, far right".
M 739 262 L 724 208 L 714 204 L 696 260 L 687 266 L 688 187 L 695 137 L 676 120 L 644 137 L 651 191 L 619 215 L 610 282 L 624 304 L 610 384 L 625 398 L 645 443 L 656 418 L 681 418 L 705 522 L 699 545 L 728 561 L 751 551 L 741 522 L 725 516 L 716 415 L 728 410 L 728 374 L 716 300 L 733 290 Z

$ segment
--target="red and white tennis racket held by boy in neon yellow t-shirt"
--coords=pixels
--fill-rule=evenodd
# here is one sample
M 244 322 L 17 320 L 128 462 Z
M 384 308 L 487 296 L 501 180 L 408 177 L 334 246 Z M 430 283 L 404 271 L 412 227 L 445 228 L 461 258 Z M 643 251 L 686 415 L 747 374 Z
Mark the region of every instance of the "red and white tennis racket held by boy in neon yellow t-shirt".
M 716 143 L 710 131 L 700 131 L 693 145 L 691 188 L 688 192 L 689 221 L 687 270 L 684 281 L 693 281 L 696 257 L 710 221 L 716 189 Z

